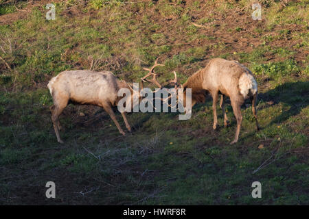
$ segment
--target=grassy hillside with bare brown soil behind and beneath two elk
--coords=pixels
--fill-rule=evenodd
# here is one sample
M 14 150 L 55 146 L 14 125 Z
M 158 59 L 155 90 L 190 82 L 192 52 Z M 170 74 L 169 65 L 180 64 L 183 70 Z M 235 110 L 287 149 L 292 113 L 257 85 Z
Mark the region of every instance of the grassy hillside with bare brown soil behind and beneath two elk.
M 0 203 L 308 205 L 309 1 L 259 2 L 262 21 L 245 0 L 0 0 Z M 229 145 L 231 105 L 231 124 L 223 127 L 218 106 L 214 131 L 211 98 L 190 120 L 128 114 L 126 136 L 100 107 L 68 105 L 58 144 L 49 79 L 93 63 L 138 82 L 157 57 L 161 83 L 173 70 L 183 83 L 214 57 L 248 66 L 262 130 L 244 105 L 240 140 Z M 47 181 L 56 183 L 53 200 Z M 251 197 L 253 181 L 262 198 Z

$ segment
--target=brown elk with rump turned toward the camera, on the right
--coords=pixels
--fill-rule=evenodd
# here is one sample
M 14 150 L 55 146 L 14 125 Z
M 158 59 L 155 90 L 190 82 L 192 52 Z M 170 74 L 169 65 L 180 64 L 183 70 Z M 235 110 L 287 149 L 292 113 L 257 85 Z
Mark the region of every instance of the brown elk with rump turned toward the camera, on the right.
M 175 83 L 177 81 L 176 75 L 174 81 Z M 177 86 L 177 83 L 175 86 Z M 208 93 L 211 94 L 213 100 L 212 110 L 214 112 L 214 129 L 217 128 L 218 123 L 216 103 L 219 94 L 221 95 L 220 108 L 224 114 L 225 127 L 228 125 L 229 120 L 225 112 L 225 101 L 227 97 L 229 97 L 233 113 L 237 120 L 235 138 L 231 144 L 238 142 L 240 126 L 242 123 L 240 107 L 245 99 L 251 99 L 256 129 L 260 129 L 255 108 L 258 97 L 258 83 L 255 81 L 251 71 L 239 62 L 228 61 L 221 58 L 210 60 L 205 68 L 198 70 L 194 75 L 190 76 L 183 85 L 177 87 L 183 88 L 184 94 L 187 88 L 192 89 L 192 107 L 198 102 L 204 102 L 205 96 Z M 186 95 L 183 95 L 184 107 L 186 103 L 185 96 Z

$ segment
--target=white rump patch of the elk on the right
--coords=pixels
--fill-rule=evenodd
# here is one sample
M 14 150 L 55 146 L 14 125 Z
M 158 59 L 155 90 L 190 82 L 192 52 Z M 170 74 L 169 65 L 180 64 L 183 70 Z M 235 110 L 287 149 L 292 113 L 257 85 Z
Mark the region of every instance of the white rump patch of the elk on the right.
M 256 83 L 254 77 L 248 73 L 244 73 L 240 76 L 238 86 L 240 88 L 240 94 L 244 96 L 244 99 L 248 98 L 250 91 L 252 94 L 258 92 L 258 83 Z

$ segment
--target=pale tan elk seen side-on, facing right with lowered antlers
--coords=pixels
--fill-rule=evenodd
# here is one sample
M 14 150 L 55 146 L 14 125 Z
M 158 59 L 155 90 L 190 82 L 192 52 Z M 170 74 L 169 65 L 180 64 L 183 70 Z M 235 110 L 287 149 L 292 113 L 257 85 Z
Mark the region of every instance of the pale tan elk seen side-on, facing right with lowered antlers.
M 154 75 L 155 79 L 156 75 L 153 70 L 156 66 L 163 65 L 157 64 L 156 60 L 155 65 L 152 66 L 152 68 L 146 68 L 147 70 L 150 70 L 146 77 L 149 75 Z M 142 82 L 146 80 L 146 77 L 142 79 Z M 103 107 L 109 116 L 111 116 L 119 132 L 122 133 L 122 135 L 125 135 L 116 120 L 112 107 L 118 104 L 119 99 L 122 99 L 122 97 L 117 96 L 117 92 L 121 88 L 130 89 L 130 103 L 134 103 L 133 89 L 129 83 L 126 83 L 126 81 L 120 81 L 117 77 L 115 77 L 115 75 L 113 75 L 113 73 L 108 71 L 95 72 L 91 70 L 69 70 L 63 71 L 56 77 L 53 77 L 47 84 L 47 87 L 49 88 L 49 92 L 52 94 L 54 102 L 54 105 L 52 105 L 50 109 L 52 111 L 52 123 L 54 125 L 54 130 L 59 143 L 63 143 L 60 139 L 59 133 L 59 116 L 69 101 L 72 103 L 98 105 Z M 128 97 L 126 96 L 125 98 Z M 140 100 L 141 98 L 139 96 L 139 101 Z M 132 107 L 134 106 L 132 105 Z M 121 112 L 121 114 L 124 118 L 124 123 L 126 123 L 126 128 L 128 131 L 131 131 L 125 112 Z

